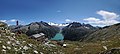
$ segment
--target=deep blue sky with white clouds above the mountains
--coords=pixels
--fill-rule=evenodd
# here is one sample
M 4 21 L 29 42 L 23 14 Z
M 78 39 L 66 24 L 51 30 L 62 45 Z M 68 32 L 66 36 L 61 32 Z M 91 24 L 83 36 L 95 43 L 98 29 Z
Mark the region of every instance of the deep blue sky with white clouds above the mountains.
M 89 23 L 106 26 L 120 22 L 120 0 L 0 0 L 0 21 L 14 25 L 31 22 Z

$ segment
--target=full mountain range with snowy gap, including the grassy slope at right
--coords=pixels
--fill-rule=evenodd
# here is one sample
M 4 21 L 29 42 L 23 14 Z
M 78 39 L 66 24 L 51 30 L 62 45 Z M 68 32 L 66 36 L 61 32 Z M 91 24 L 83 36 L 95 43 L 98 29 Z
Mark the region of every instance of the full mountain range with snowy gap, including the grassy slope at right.
M 114 36 L 120 36 L 120 23 L 105 26 L 94 27 L 90 24 L 84 24 L 79 22 L 56 24 L 46 22 L 32 22 L 28 25 L 9 26 L 12 32 L 22 31 L 22 33 L 31 36 L 33 34 L 45 33 L 49 38 L 55 36 L 56 33 L 62 30 L 64 40 L 71 41 L 96 41 L 107 40 Z

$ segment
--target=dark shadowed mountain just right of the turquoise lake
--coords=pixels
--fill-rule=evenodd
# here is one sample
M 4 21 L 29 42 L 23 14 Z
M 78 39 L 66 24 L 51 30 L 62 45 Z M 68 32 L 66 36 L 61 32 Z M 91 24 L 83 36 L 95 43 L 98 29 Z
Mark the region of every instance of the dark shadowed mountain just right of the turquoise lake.
M 97 28 L 90 24 L 73 22 L 62 29 L 62 34 L 64 35 L 64 40 L 76 41 L 81 40 L 86 34 L 91 33 L 96 29 Z

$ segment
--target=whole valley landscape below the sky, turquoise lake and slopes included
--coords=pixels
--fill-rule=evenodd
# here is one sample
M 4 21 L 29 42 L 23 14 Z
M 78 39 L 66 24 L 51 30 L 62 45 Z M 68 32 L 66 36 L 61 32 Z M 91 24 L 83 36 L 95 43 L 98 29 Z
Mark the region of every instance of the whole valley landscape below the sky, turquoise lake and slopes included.
M 61 32 L 58 27 L 45 22 L 8 29 L 6 24 L 1 23 L 1 25 L 0 52 L 2 54 L 120 53 L 119 23 L 98 28 L 73 22 L 64 27 Z M 18 33 L 19 31 L 20 33 Z M 35 34 L 39 35 L 34 36 Z M 34 38 L 29 38 L 32 36 Z M 66 44 L 66 46 L 64 47 L 62 44 Z

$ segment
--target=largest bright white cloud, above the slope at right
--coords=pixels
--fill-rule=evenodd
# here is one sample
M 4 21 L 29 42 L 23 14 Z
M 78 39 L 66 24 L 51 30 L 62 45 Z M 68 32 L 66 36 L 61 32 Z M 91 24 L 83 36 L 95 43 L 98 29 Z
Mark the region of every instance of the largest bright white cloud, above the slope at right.
M 116 20 L 119 17 L 119 15 L 117 15 L 114 12 L 100 10 L 97 11 L 97 14 L 101 15 L 103 17 L 103 20 L 95 17 L 89 17 L 83 20 L 86 21 L 86 23 L 90 23 L 92 25 L 102 25 L 102 26 L 119 23 L 119 21 Z

